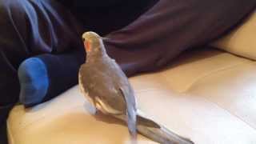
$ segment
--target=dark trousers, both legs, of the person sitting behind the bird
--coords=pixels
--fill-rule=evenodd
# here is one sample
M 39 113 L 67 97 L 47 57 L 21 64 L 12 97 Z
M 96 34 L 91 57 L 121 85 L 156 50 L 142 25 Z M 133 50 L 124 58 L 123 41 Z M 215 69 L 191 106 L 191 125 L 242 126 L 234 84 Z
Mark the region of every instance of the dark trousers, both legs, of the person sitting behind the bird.
M 56 0 L 0 0 L 0 131 L 5 131 L 8 111 L 18 101 L 17 69 L 24 59 L 73 54 L 82 63 L 80 35 L 94 30 L 110 38 L 107 52 L 128 76 L 158 70 L 182 51 L 205 45 L 238 25 L 254 10 L 256 0 L 159 0 L 133 9 L 136 4 L 73 8 L 74 17 Z M 72 65 L 62 61 L 64 68 Z M 79 65 L 71 67 L 77 71 Z M 76 73 L 69 78 L 69 86 L 77 83 Z M 4 134 L 0 137 L 6 143 Z

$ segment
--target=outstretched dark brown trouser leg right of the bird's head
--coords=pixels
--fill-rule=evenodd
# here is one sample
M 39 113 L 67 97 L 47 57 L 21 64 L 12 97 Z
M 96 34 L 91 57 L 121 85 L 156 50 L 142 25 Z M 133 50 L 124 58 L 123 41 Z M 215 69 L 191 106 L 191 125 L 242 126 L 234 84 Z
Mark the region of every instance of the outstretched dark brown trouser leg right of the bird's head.
M 106 49 L 128 76 L 158 70 L 182 51 L 220 37 L 255 6 L 255 0 L 159 0 L 129 26 L 108 34 Z

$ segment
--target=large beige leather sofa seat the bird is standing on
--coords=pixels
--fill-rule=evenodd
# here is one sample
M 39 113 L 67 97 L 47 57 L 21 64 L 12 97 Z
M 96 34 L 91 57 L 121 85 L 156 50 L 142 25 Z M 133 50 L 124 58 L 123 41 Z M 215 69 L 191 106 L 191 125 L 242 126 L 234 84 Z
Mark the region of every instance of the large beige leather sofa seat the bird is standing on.
M 139 108 L 198 144 L 255 144 L 256 63 L 218 50 L 194 50 L 175 62 L 130 78 Z M 30 110 L 14 107 L 8 132 L 11 144 L 129 143 L 125 125 L 90 114 L 78 86 Z

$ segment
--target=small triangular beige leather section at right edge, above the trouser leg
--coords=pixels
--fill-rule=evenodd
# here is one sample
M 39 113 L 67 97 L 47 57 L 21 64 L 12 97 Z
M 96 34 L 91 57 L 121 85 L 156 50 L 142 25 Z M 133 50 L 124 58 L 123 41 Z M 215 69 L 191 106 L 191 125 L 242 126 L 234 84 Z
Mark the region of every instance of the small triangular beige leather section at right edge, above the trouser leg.
M 213 46 L 256 60 L 256 12 L 242 26 L 214 42 Z

